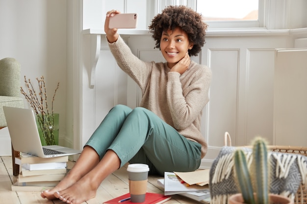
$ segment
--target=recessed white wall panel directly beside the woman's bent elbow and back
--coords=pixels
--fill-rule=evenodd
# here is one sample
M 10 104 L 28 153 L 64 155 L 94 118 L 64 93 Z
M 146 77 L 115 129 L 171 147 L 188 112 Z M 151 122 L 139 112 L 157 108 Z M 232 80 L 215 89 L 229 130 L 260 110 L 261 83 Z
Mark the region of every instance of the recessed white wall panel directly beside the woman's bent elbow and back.
M 222 138 L 226 131 L 236 133 L 238 63 L 239 49 L 209 49 L 208 66 L 212 69 L 212 83 L 206 129 L 210 146 L 223 146 Z

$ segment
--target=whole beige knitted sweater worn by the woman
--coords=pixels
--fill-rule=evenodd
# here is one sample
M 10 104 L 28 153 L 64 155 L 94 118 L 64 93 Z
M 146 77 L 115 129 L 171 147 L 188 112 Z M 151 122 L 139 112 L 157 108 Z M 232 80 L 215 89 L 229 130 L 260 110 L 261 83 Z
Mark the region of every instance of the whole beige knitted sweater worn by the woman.
M 182 136 L 200 143 L 204 158 L 207 143 L 200 124 L 203 108 L 209 101 L 211 70 L 191 61 L 183 74 L 170 72 L 166 63 L 137 58 L 120 36 L 109 47 L 119 67 L 141 88 L 140 107 L 157 114 Z

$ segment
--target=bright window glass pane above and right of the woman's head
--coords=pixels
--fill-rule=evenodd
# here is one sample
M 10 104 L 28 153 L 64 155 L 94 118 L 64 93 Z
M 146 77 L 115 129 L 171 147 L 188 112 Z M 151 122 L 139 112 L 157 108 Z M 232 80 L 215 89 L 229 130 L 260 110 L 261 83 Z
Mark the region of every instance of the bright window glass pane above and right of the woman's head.
M 197 0 L 205 21 L 258 20 L 258 0 Z

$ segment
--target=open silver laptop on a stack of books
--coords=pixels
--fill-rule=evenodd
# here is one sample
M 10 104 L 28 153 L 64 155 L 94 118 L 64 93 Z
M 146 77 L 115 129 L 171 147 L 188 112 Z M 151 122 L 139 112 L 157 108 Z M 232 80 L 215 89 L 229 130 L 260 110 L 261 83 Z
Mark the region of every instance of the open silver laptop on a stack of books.
M 42 146 L 33 110 L 4 106 L 3 111 L 14 150 L 41 158 L 81 153 L 58 145 Z

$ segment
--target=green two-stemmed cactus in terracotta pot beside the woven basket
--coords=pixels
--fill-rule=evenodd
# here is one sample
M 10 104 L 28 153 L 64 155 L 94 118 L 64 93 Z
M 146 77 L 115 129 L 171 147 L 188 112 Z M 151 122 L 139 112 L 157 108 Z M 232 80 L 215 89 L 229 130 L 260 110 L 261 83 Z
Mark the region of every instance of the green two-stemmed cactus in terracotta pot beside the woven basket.
M 292 204 L 284 196 L 269 193 L 270 166 L 266 142 L 256 137 L 253 142 L 252 163 L 248 167 L 246 154 L 242 149 L 234 152 L 234 172 L 241 193 L 231 195 L 229 204 Z

